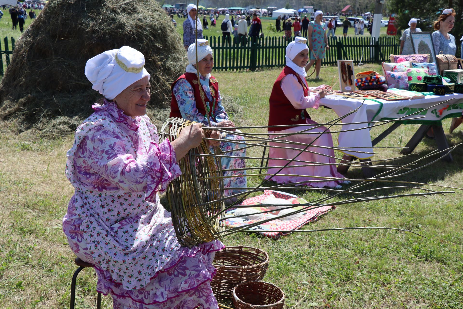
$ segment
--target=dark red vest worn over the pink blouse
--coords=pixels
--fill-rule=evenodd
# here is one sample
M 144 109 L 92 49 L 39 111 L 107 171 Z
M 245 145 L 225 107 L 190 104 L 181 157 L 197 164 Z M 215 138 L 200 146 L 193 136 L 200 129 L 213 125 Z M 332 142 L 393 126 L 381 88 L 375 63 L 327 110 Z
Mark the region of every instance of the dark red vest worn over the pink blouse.
M 304 88 L 304 96 L 307 96 L 309 89 L 307 85 L 302 81 L 299 74 L 293 69 L 285 66 L 280 73 L 280 76 L 276 79 L 273 84 L 272 93 L 270 95 L 270 111 L 269 111 L 269 126 L 282 126 L 278 128 L 268 128 L 269 131 L 281 131 L 291 128 L 291 126 L 284 125 L 301 125 L 307 123 L 306 119 L 310 119 L 309 114 L 305 109 L 296 109 L 293 104 L 288 100 L 286 95 L 283 93 L 281 81 L 283 77 L 288 74 L 293 74 L 297 77 L 300 86 Z

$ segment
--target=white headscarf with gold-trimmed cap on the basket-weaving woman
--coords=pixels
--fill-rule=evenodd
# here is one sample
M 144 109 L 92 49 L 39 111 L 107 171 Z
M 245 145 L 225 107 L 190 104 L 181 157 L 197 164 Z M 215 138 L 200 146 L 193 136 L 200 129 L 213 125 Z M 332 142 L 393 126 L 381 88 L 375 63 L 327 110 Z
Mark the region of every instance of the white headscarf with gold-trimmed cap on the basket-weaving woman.
M 87 61 L 85 76 L 92 88 L 113 100 L 125 88 L 150 74 L 144 68 L 144 56 L 129 46 L 107 50 Z

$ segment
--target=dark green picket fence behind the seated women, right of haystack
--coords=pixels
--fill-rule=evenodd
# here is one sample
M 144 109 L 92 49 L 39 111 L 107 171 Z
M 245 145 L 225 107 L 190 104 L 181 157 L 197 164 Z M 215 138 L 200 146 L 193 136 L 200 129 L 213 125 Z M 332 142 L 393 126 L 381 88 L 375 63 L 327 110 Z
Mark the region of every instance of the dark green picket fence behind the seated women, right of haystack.
M 255 70 L 283 67 L 285 49 L 293 38 L 231 38 L 206 37 L 213 49 L 215 70 Z M 337 64 L 338 59 L 354 63 L 380 63 L 397 54 L 400 45 L 392 37 L 330 37 L 322 65 Z

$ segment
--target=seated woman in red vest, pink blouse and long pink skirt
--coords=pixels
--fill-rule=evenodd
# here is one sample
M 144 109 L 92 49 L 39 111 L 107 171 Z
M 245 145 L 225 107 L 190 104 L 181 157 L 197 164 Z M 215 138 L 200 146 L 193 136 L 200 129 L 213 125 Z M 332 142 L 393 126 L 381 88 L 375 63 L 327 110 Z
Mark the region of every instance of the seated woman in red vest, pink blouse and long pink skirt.
M 283 127 L 269 127 L 269 134 L 300 132 L 312 127 L 307 131 L 309 134 L 294 134 L 281 139 L 286 139 L 294 142 L 310 144 L 313 146 L 326 146 L 333 147 L 333 140 L 329 130 L 325 127 L 319 126 L 315 128 L 317 123 L 310 119 L 306 108 L 318 108 L 320 98 L 325 97 L 324 89 L 330 88 L 326 85 L 319 87 L 309 88 L 306 82 L 305 66 L 309 54 L 307 47 L 307 39 L 302 37 L 294 38 L 294 41 L 286 47 L 286 66 L 283 68 L 282 73 L 273 85 L 272 93 L 270 95 L 270 113 L 269 113 L 269 126 L 283 126 Z M 311 124 L 314 126 L 288 126 L 288 125 L 303 125 Z M 287 125 L 287 126 L 285 126 Z M 326 130 L 326 131 L 325 131 Z M 314 132 L 320 134 L 313 134 Z M 322 132 L 325 132 L 321 134 Z M 310 134 L 312 133 L 312 134 Z M 270 135 L 271 139 L 277 139 L 279 135 Z M 296 157 L 299 152 L 304 149 L 305 145 L 293 145 L 270 142 L 270 146 L 284 146 L 296 149 L 283 149 L 283 148 L 270 148 L 269 151 L 269 174 L 275 174 L 280 168 L 272 166 L 283 166 L 288 161 L 277 160 L 275 158 L 292 159 Z M 310 151 L 310 152 L 309 152 Z M 336 162 L 334 151 L 332 149 L 309 147 L 306 151 L 295 158 L 296 160 L 313 162 L 314 165 L 307 165 L 308 163 L 291 162 L 287 167 L 281 170 L 276 176 L 266 176 L 266 179 L 271 177 L 271 180 L 277 183 L 298 183 L 309 185 L 312 187 L 336 187 L 340 188 L 342 180 L 323 180 L 323 177 L 328 178 L 342 178 L 343 175 L 339 174 L 336 170 Z M 309 163 L 310 164 L 310 163 Z M 326 164 L 326 165 L 319 165 Z M 291 176 L 285 176 L 291 175 Z M 314 182 L 318 181 L 318 182 Z M 304 183 L 300 183 L 304 182 Z

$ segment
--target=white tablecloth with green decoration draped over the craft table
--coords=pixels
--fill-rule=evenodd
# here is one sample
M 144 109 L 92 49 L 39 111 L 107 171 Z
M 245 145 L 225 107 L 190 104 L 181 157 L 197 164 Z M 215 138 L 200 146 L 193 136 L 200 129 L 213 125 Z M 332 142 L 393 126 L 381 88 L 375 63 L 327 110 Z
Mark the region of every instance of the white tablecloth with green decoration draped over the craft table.
M 442 103 L 452 99 L 448 102 Z M 363 102 L 363 105 L 362 105 Z M 424 110 L 427 107 L 435 104 L 438 106 Z M 463 112 L 463 94 L 452 94 L 452 95 L 427 95 L 424 99 L 415 100 L 402 100 L 402 101 L 384 101 L 377 99 L 372 100 L 357 100 L 357 99 L 328 99 L 323 98 L 320 100 L 320 105 L 332 108 L 339 117 L 348 114 L 350 111 L 360 107 L 359 110 L 353 114 L 350 114 L 342 120 L 343 123 L 349 122 L 364 122 L 364 121 L 377 121 L 384 119 L 398 119 L 408 114 L 413 114 L 418 111 L 421 113 L 410 115 L 407 118 L 422 117 L 419 120 L 409 120 L 406 123 L 420 123 L 420 124 L 439 124 L 440 120 L 450 117 L 458 117 Z M 357 124 L 357 125 L 343 125 L 342 130 L 350 130 L 363 128 L 362 130 L 341 132 L 339 133 L 338 145 L 339 147 L 372 147 L 370 128 L 373 124 Z M 332 126 L 331 131 L 339 131 L 340 126 Z M 388 125 L 384 125 L 386 129 Z M 413 132 L 414 133 L 414 132 Z M 412 137 L 410 134 L 410 138 Z M 350 149 L 358 151 L 374 152 L 372 148 L 358 148 Z M 358 153 L 344 149 L 341 151 L 345 154 L 354 156 L 359 159 L 372 158 L 373 155 Z

